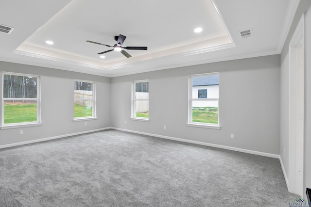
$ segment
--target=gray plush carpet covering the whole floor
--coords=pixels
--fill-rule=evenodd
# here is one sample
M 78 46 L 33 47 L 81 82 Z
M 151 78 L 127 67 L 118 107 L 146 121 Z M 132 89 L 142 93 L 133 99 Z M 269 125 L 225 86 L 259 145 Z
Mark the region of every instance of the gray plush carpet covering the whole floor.
M 0 207 L 288 207 L 278 159 L 104 130 L 0 150 Z

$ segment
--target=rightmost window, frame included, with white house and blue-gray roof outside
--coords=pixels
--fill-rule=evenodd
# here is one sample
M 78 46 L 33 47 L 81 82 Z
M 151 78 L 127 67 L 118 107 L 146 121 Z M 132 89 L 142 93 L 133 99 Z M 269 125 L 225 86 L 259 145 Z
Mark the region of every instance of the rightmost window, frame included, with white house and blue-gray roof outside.
M 219 73 L 190 76 L 189 98 L 188 126 L 220 128 Z

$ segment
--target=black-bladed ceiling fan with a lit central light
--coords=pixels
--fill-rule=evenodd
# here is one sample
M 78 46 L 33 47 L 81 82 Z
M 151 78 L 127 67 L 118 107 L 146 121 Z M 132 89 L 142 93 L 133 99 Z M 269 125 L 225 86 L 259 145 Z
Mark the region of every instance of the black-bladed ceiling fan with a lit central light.
M 100 53 L 97 53 L 98 55 L 101 55 L 101 54 L 104 54 L 106 52 L 110 52 L 110 51 L 113 51 L 113 50 L 116 50 L 116 51 L 121 51 L 121 53 L 127 57 L 127 58 L 130 58 L 132 57 L 130 54 L 128 54 L 125 50 L 123 49 L 140 49 L 140 50 L 147 50 L 147 47 L 122 47 L 122 44 L 125 40 L 126 36 L 120 34 L 119 36 L 115 36 L 115 40 L 117 41 L 117 44 L 115 44 L 114 46 L 110 46 L 110 45 L 105 45 L 105 44 L 102 44 L 102 43 L 98 43 L 98 42 L 93 42 L 93 41 L 89 41 L 89 40 L 86 40 L 86 42 L 89 42 L 89 43 L 94 43 L 94 44 L 98 44 L 98 45 L 104 45 L 104 46 L 107 46 L 107 47 L 110 47 L 110 48 L 113 48 L 113 49 L 109 49 L 107 51 L 104 51 L 104 52 L 100 52 Z

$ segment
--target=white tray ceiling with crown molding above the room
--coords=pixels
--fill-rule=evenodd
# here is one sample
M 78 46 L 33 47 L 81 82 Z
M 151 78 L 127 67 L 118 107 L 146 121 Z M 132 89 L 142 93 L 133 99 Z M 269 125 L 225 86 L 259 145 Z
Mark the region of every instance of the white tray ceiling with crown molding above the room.
M 1 0 L 0 61 L 115 77 L 279 54 L 299 0 Z M 200 33 L 194 29 L 201 27 Z M 252 29 L 253 36 L 240 32 Z M 122 47 L 97 55 L 126 36 Z M 45 43 L 52 40 L 52 46 Z M 5 70 L 1 68 L 1 70 Z

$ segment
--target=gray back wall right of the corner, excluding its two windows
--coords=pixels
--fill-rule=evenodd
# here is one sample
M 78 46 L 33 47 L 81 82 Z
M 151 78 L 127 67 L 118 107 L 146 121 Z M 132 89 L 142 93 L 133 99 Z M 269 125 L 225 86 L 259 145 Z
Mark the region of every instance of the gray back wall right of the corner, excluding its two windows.
M 187 127 L 189 75 L 218 71 L 221 129 Z M 131 120 L 131 83 L 147 79 L 150 122 Z M 111 79 L 112 127 L 277 155 L 279 104 L 279 55 Z M 164 126 L 167 126 L 167 130 L 164 130 Z M 235 134 L 235 139 L 230 139 L 230 133 Z

